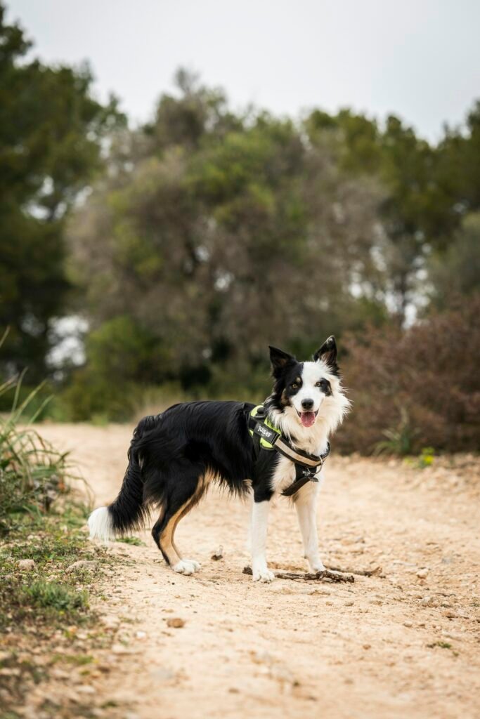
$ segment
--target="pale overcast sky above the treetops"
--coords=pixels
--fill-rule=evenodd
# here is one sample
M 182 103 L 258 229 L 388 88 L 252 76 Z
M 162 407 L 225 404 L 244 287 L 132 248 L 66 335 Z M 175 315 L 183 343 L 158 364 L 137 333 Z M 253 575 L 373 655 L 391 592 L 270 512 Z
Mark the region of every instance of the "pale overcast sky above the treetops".
M 480 98 L 480 0 L 7 0 L 48 63 L 89 60 L 96 91 L 145 121 L 178 66 L 297 116 L 399 114 L 429 139 Z

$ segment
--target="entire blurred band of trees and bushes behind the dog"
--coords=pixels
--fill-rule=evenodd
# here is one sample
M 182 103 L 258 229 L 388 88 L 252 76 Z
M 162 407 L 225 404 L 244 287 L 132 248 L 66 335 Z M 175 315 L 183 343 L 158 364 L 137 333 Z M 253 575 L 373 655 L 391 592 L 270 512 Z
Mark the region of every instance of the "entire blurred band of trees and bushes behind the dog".
M 304 358 L 334 333 L 340 449 L 478 449 L 480 101 L 432 144 L 396 116 L 233 111 L 180 69 L 132 129 L 87 66 L 29 47 L 0 2 L 0 380 L 28 368 L 20 403 L 45 377 L 40 418 L 63 421 L 261 400 L 268 344 Z

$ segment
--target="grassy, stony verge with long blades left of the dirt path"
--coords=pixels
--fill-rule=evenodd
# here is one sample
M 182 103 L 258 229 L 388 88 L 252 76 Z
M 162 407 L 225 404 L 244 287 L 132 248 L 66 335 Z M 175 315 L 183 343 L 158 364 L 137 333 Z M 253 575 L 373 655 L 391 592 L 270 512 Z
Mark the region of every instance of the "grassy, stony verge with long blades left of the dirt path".
M 0 385 L 0 398 L 13 395 L 11 410 L 0 415 L 0 719 L 23 715 L 32 682 L 47 681 L 57 661 L 89 672 L 94 656 L 85 652 L 86 641 L 90 651 L 109 646 L 112 636 L 96 628 L 89 591 L 101 595 L 102 565 L 121 561 L 89 542 L 90 508 L 69 489 L 68 455 L 19 425 L 32 403 L 30 421 L 42 407 L 33 402 L 40 388 L 22 392 L 21 379 Z M 32 561 L 21 567 L 22 560 Z M 93 564 L 68 571 L 78 560 Z M 59 705 L 47 700 L 40 713 L 93 717 L 90 700 L 83 706 L 58 696 Z

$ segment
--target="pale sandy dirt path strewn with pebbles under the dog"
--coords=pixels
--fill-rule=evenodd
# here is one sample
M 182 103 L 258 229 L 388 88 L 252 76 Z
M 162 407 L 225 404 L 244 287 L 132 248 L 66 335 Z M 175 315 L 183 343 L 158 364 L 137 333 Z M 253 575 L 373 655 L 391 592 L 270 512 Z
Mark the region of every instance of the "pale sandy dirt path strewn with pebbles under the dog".
M 73 449 L 97 505 L 117 493 L 130 432 L 42 429 Z M 194 577 L 173 574 L 149 533 L 147 546 L 112 545 L 135 564 L 100 606 L 117 638 L 110 671 L 92 675 L 99 707 L 114 700 L 142 719 L 480 717 L 480 463 L 452 462 L 329 459 L 322 559 L 384 572 L 354 585 L 254 584 L 242 574 L 248 508 L 215 490 L 176 535 L 202 564 Z M 286 500 L 268 550 L 272 567 L 306 568 Z M 184 626 L 169 627 L 177 617 Z

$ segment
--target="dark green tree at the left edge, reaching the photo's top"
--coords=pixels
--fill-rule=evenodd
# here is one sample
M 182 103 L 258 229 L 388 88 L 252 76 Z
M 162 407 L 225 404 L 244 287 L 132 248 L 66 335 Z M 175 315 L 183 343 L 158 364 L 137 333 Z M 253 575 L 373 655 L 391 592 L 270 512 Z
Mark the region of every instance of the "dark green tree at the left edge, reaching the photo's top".
M 27 60 L 31 42 L 5 14 L 0 4 L 0 326 L 11 328 L 2 362 L 36 380 L 68 290 L 65 218 L 122 116 L 114 98 L 93 98 L 87 66 Z

